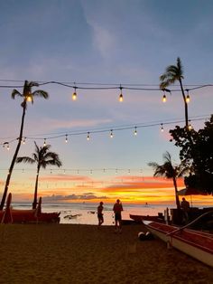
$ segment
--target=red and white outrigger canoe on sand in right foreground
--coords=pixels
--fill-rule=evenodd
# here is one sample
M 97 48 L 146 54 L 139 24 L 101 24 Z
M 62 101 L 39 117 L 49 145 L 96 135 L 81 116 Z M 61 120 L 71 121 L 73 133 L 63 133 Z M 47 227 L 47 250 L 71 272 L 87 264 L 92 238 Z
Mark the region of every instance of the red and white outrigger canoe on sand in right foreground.
M 144 221 L 144 224 L 149 232 L 165 241 L 168 248 L 174 247 L 213 267 L 213 234 L 160 222 Z

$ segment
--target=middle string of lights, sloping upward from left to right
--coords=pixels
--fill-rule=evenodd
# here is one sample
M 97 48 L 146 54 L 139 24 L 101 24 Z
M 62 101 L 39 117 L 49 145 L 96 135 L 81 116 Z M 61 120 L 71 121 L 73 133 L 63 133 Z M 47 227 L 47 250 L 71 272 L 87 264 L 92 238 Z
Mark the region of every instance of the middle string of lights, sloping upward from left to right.
M 210 117 L 210 115 L 209 115 Z M 203 117 L 203 118 L 190 118 L 190 122 L 191 121 L 200 121 L 200 120 L 206 120 L 208 119 L 209 117 Z M 115 132 L 115 131 L 124 131 L 124 130 L 131 130 L 131 129 L 138 129 L 138 128 L 151 128 L 151 127 L 163 127 L 165 125 L 173 125 L 173 124 L 176 124 L 176 123 L 183 123 L 185 122 L 184 119 L 177 119 L 177 120 L 171 120 L 171 121 L 166 121 L 166 122 L 157 122 L 157 123 L 148 123 L 148 124 L 134 124 L 132 126 L 128 126 L 128 127 L 111 127 L 111 128 L 107 128 L 107 129 L 94 129 L 94 130 L 84 130 L 84 131 L 81 131 L 81 132 L 63 132 L 59 135 L 55 135 L 55 136 L 49 136 L 49 134 L 43 134 L 42 136 L 43 137 L 38 137 L 38 136 L 41 136 L 41 135 L 34 135 L 34 136 L 23 136 L 23 139 L 24 141 L 26 139 L 28 140 L 51 140 L 51 139 L 56 139 L 56 138 L 60 138 L 60 137 L 66 137 L 66 141 L 67 141 L 67 138 L 68 137 L 75 137 L 75 136 L 85 136 L 85 135 L 88 135 L 88 137 L 90 137 L 91 134 L 99 134 L 99 133 L 106 133 L 106 132 Z M 135 134 L 135 132 L 134 132 Z M 1 138 L 0 139 L 5 139 L 5 138 Z M 0 143 L 0 146 L 8 146 L 9 144 L 12 144 L 14 141 L 18 140 L 19 138 L 13 138 L 9 141 L 6 141 L 6 142 L 2 142 Z

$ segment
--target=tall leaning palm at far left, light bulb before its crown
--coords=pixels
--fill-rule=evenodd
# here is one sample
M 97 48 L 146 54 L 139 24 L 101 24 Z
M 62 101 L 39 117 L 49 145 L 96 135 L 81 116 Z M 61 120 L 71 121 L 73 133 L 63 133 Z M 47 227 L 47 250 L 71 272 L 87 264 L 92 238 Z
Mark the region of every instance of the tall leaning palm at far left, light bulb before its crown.
M 11 166 L 9 168 L 9 172 L 7 174 L 6 177 L 6 182 L 5 182 L 5 191 L 4 194 L 2 196 L 2 201 L 0 204 L 0 210 L 3 210 L 4 205 L 5 205 L 5 199 L 6 199 L 6 194 L 10 185 L 10 179 L 11 179 L 11 175 L 14 169 L 14 163 L 16 160 L 16 157 L 18 156 L 18 152 L 19 149 L 21 147 L 22 144 L 22 140 L 23 140 L 23 124 L 24 124 L 24 118 L 25 118 L 25 113 L 26 113 L 26 109 L 27 109 L 27 102 L 31 101 L 33 103 L 33 98 L 34 97 L 42 97 L 44 99 L 48 99 L 49 95 L 46 91 L 44 90 L 35 90 L 32 92 L 32 87 L 38 87 L 39 84 L 33 81 L 28 81 L 25 80 L 24 85 L 23 85 L 23 93 L 20 93 L 18 90 L 13 90 L 11 96 L 12 99 L 14 99 L 16 96 L 19 96 L 23 99 L 23 102 L 21 103 L 21 107 L 23 108 L 23 116 L 22 116 L 22 121 L 21 121 L 21 128 L 20 128 L 20 133 L 19 133 L 19 137 L 17 138 L 18 140 L 18 144 L 16 146 L 16 149 L 14 151 L 14 156 L 11 162 Z

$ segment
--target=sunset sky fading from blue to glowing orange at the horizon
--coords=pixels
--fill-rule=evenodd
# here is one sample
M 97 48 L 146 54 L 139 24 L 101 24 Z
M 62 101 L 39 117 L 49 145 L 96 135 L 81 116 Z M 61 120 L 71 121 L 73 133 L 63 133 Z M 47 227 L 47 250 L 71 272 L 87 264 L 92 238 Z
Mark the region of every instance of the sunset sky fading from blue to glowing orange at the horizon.
M 0 0 L 0 196 L 22 116 L 22 100 L 11 92 L 33 80 L 86 88 L 73 101 L 73 88 L 44 84 L 50 99 L 28 105 L 19 156 L 31 156 L 34 141 L 42 146 L 46 138 L 63 164 L 41 171 L 43 202 L 173 202 L 172 182 L 153 178 L 147 164 L 162 164 L 166 151 L 180 162 L 169 129 L 184 125 L 183 101 L 180 91 L 172 92 L 178 85 L 166 103 L 162 91 L 151 89 L 159 89 L 160 75 L 178 56 L 184 89 L 213 83 L 212 12 L 209 0 Z M 109 89 L 87 89 L 94 86 Z M 119 86 L 148 90 L 123 89 L 119 102 Z M 212 92 L 190 91 L 195 129 L 212 113 Z M 35 175 L 35 166 L 14 166 L 14 201 L 32 201 Z M 182 180 L 178 185 L 184 187 Z M 212 203 L 209 196 L 193 198 Z

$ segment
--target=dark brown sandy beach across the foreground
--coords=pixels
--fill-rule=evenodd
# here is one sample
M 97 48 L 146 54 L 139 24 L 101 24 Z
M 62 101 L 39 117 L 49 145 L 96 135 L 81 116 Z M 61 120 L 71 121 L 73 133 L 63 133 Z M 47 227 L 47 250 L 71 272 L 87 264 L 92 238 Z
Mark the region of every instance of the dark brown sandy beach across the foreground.
M 213 283 L 213 270 L 160 240 L 139 241 L 142 225 L 0 225 L 0 283 Z

